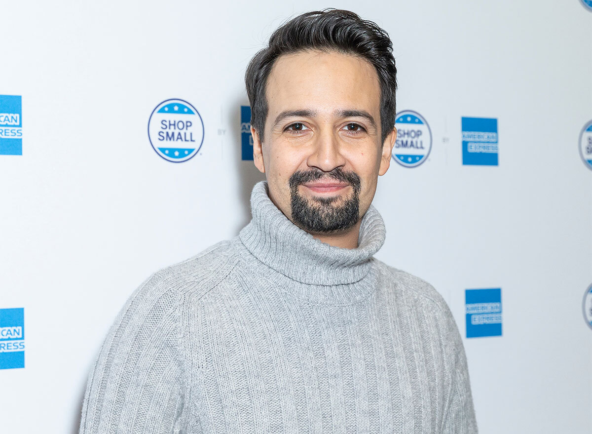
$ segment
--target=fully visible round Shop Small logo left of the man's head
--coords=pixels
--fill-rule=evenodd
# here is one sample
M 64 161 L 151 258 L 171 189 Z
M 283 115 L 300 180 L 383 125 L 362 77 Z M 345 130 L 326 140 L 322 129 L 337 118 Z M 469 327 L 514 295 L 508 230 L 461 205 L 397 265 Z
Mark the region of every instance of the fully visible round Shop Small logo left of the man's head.
M 172 162 L 195 157 L 204 142 L 204 123 L 190 103 L 173 98 L 158 104 L 148 120 L 148 139 L 156 154 Z

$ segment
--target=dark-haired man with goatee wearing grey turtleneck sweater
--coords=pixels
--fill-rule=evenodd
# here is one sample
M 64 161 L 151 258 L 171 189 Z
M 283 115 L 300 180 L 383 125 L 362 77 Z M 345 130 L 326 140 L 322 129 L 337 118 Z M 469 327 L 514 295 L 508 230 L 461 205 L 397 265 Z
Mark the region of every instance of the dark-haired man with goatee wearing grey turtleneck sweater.
M 451 312 L 372 255 L 371 206 L 397 136 L 377 25 L 300 15 L 251 61 L 266 183 L 238 237 L 160 270 L 121 311 L 82 433 L 476 433 Z

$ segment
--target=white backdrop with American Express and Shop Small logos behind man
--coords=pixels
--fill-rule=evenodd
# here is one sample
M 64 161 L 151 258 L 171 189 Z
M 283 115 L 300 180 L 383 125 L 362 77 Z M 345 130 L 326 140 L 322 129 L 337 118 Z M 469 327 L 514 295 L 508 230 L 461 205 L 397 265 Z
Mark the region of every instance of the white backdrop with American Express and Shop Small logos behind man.
M 278 25 L 391 36 L 377 257 L 442 293 L 483 434 L 592 432 L 592 2 L 0 2 L 0 432 L 75 433 L 131 292 L 250 219 Z

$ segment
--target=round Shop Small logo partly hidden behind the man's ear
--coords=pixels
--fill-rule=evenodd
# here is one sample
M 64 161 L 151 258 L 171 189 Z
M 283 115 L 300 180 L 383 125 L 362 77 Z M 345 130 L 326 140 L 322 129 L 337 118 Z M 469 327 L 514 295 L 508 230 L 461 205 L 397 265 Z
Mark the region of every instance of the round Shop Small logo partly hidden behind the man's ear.
M 426 161 L 432 151 L 432 130 L 417 111 L 397 113 L 397 141 L 392 158 L 404 167 L 416 167 Z

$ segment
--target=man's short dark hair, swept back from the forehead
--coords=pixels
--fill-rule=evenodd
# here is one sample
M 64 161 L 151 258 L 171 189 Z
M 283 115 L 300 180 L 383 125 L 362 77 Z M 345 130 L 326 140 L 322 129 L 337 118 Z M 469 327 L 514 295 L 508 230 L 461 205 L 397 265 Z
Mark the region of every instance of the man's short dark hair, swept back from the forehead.
M 279 56 L 306 50 L 335 50 L 368 60 L 380 83 L 380 124 L 382 143 L 395 125 L 397 68 L 392 42 L 386 31 L 358 14 L 342 9 L 323 9 L 298 15 L 277 28 L 269 44 L 249 62 L 244 82 L 251 106 L 251 126 L 263 141 L 267 117 L 265 88 L 275 60 Z

